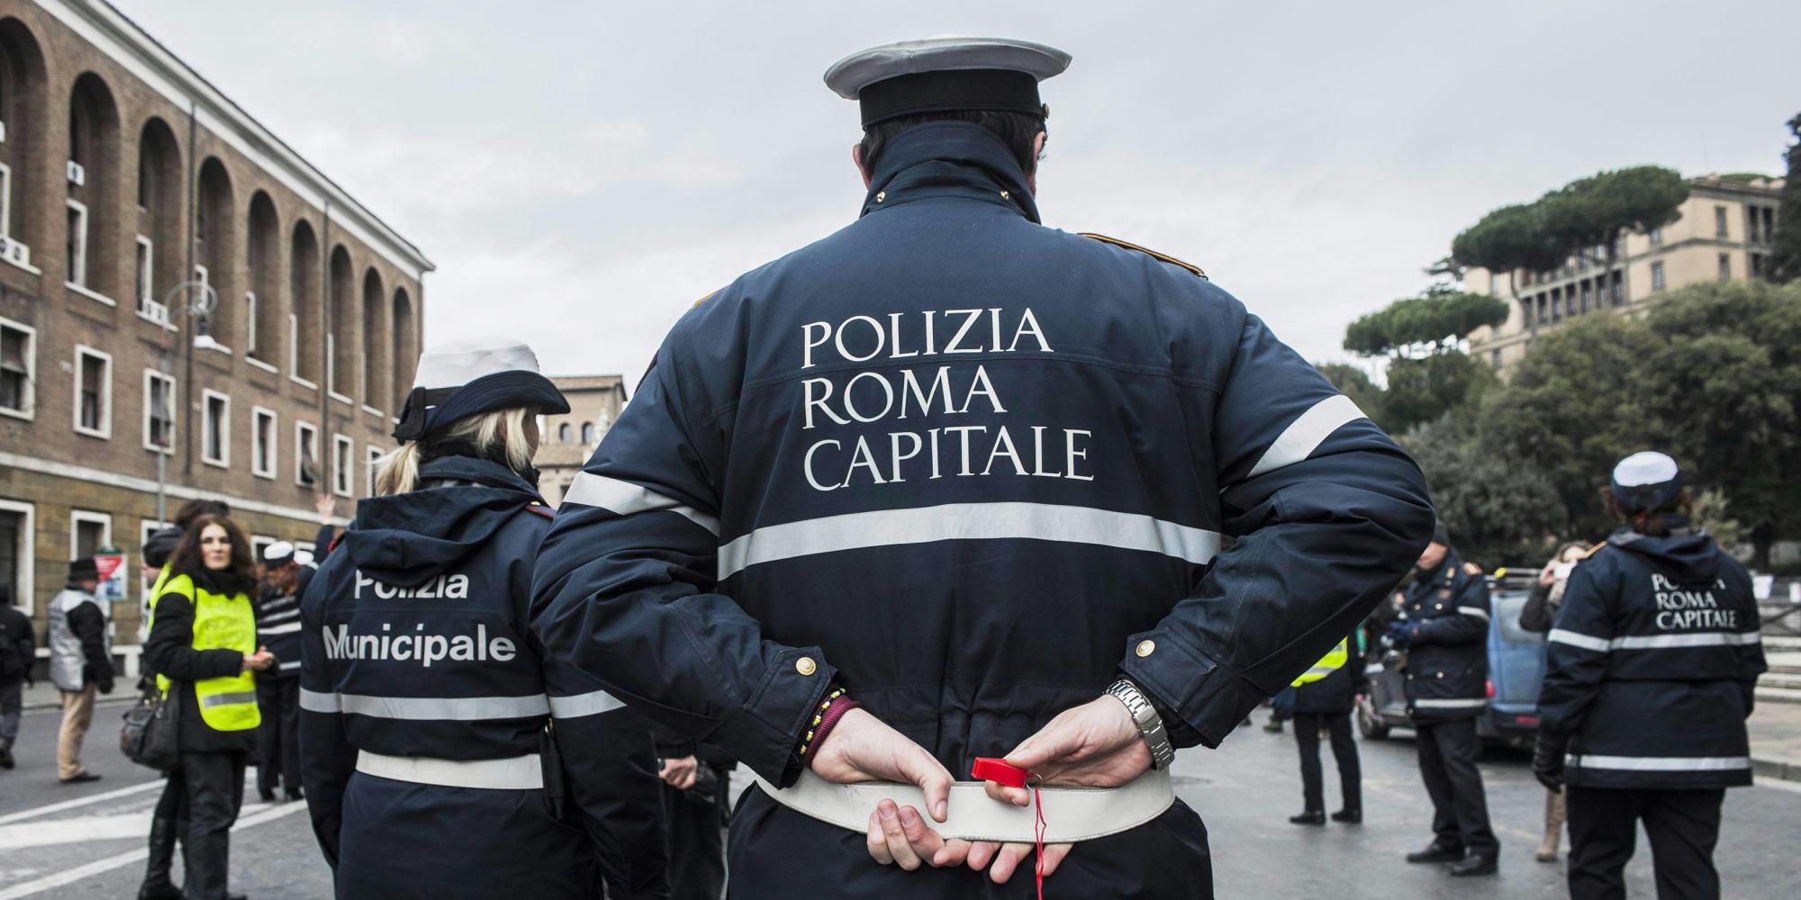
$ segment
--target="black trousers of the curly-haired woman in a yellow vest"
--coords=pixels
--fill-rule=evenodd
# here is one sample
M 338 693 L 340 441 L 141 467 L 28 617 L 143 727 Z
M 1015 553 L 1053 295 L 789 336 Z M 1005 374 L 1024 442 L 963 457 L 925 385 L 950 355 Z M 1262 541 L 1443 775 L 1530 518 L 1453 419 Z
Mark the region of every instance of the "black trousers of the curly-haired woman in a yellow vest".
M 169 882 L 175 835 L 180 833 L 182 895 L 187 900 L 225 900 L 231 826 L 238 823 L 241 805 L 241 752 L 184 752 L 151 817 L 146 884 Z

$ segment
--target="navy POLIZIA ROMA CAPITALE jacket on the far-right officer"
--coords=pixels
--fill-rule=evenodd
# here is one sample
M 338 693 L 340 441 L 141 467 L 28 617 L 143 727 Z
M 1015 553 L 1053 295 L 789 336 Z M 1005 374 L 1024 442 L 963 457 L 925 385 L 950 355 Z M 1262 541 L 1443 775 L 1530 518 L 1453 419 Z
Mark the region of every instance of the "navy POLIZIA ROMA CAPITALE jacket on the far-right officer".
M 1570 738 L 1565 779 L 1749 785 L 1758 626 L 1751 576 L 1707 533 L 1610 536 L 1570 572 L 1538 695 L 1540 727 Z

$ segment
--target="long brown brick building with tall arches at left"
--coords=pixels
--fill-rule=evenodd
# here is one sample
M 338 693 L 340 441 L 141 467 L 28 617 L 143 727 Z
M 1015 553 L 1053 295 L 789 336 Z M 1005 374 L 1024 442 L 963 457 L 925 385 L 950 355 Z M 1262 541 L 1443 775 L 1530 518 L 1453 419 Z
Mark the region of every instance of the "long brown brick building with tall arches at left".
M 158 457 L 169 515 L 222 497 L 258 544 L 310 542 L 315 491 L 349 513 L 430 268 L 117 9 L 0 0 L 0 587 L 41 626 L 121 547 L 131 671 Z

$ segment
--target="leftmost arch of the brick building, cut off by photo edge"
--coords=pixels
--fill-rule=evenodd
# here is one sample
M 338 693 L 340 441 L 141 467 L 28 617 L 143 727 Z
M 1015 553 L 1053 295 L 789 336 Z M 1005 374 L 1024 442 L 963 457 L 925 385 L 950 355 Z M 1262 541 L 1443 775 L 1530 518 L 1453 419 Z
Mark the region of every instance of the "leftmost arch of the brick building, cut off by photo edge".
M 0 257 L 32 265 L 32 247 L 43 245 L 38 212 L 43 167 L 43 52 L 31 29 L 16 18 L 0 20 Z M 56 194 L 49 194 L 56 196 Z

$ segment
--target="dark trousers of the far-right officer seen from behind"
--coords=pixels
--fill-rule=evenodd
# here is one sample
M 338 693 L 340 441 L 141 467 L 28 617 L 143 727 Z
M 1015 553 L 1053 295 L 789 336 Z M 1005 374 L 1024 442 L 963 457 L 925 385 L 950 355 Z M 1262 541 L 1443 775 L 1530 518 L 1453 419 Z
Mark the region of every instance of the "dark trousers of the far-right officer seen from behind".
M 1569 788 L 1570 900 L 1619 900 L 1623 877 L 1644 823 L 1652 841 L 1652 869 L 1659 900 L 1718 900 L 1720 873 L 1713 846 L 1720 842 L 1720 803 L 1725 788 L 1630 790 Z

